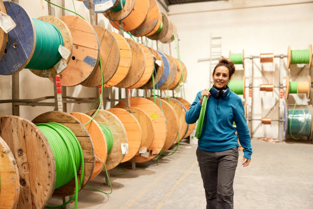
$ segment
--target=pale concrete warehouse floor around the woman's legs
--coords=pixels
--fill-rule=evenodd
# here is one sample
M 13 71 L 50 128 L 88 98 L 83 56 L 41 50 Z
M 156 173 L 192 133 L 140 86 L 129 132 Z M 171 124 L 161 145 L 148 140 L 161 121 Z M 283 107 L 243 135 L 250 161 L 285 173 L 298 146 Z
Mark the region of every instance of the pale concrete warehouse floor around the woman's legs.
M 313 144 L 252 140 L 252 162 L 240 164 L 234 180 L 234 208 L 313 208 Z M 110 172 L 113 194 L 85 187 L 78 208 L 205 208 L 205 192 L 195 156 L 196 145 L 182 143 L 178 151 L 126 169 L 125 175 Z M 130 164 L 123 164 L 128 166 Z M 119 171 L 118 171 L 119 172 Z M 89 184 L 105 191 L 104 173 Z M 58 200 L 53 198 L 52 202 Z

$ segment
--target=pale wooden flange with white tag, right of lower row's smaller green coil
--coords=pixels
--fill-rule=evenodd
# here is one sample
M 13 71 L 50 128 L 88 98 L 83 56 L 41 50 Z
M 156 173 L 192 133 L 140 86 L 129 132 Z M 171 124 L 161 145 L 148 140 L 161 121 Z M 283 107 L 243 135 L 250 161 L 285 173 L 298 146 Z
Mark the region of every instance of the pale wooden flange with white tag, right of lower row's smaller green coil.
M 87 112 L 86 115 L 93 117 L 95 113 L 96 110 L 92 110 L 90 112 Z M 113 148 L 111 152 L 107 155 L 105 162 L 106 170 L 109 171 L 111 169 L 114 169 L 118 164 L 120 164 L 120 162 L 124 158 L 124 154 L 122 154 L 121 144 L 127 143 L 126 130 L 121 120 L 116 115 L 106 110 L 99 110 L 94 120 L 96 120 L 99 124 L 108 127 L 113 134 Z

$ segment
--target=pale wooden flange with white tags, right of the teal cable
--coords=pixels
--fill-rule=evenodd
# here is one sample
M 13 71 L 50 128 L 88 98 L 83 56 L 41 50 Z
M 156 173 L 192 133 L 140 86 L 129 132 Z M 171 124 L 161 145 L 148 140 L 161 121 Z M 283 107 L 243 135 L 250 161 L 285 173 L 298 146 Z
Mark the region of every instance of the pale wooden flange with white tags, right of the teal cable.
M 52 25 L 57 27 L 57 29 L 59 29 L 59 31 L 63 37 L 64 47 L 71 52 L 67 59 L 65 59 L 63 57 L 61 58 L 66 64 L 68 64 L 70 59 L 71 59 L 71 55 L 72 55 L 72 51 L 73 51 L 73 38 L 72 38 L 72 34 L 71 34 L 71 31 L 68 28 L 68 26 L 66 26 L 65 23 L 61 19 L 59 19 L 55 16 L 47 15 L 47 16 L 39 17 L 37 19 L 39 19 L 43 22 L 51 23 Z M 62 69 L 59 70 L 58 66 L 59 66 L 59 62 L 54 67 L 47 69 L 47 71 L 49 71 L 51 73 L 50 76 L 47 76 L 48 74 L 46 74 L 46 73 L 43 74 L 42 70 L 30 69 L 30 71 L 32 73 L 34 73 L 35 75 L 40 76 L 40 77 L 44 77 L 44 78 L 54 77 L 57 74 L 62 72 Z

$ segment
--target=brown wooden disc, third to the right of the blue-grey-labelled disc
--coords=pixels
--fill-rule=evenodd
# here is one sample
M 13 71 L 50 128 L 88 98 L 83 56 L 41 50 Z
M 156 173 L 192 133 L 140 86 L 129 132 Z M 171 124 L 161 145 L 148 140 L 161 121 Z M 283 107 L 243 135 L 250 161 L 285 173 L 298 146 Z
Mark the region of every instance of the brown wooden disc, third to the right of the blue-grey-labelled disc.
M 131 50 L 132 64 L 124 80 L 115 85 L 119 88 L 128 88 L 135 85 L 143 76 L 146 67 L 145 54 L 140 45 L 130 38 L 126 38 L 126 41 Z

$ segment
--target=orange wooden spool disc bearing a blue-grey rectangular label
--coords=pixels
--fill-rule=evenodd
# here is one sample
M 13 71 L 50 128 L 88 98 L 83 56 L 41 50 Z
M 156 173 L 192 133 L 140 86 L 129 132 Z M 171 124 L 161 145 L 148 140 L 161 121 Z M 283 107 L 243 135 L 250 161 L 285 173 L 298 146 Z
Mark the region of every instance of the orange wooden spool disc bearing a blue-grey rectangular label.
M 73 53 L 61 73 L 61 86 L 76 86 L 86 80 L 98 66 L 100 46 L 94 28 L 86 20 L 77 16 L 61 16 L 70 28 L 73 37 Z M 50 78 L 53 80 L 53 78 Z

